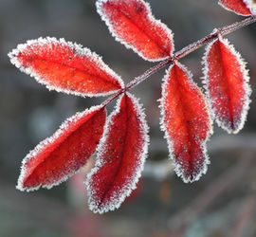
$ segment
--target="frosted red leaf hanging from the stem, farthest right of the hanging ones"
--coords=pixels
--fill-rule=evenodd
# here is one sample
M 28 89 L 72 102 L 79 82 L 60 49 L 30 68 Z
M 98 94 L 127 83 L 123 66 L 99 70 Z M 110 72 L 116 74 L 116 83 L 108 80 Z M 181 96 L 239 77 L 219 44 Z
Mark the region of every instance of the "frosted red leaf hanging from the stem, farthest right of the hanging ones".
M 250 88 L 246 65 L 227 40 L 219 38 L 208 46 L 205 78 L 218 125 L 229 133 L 238 133 L 247 118 Z

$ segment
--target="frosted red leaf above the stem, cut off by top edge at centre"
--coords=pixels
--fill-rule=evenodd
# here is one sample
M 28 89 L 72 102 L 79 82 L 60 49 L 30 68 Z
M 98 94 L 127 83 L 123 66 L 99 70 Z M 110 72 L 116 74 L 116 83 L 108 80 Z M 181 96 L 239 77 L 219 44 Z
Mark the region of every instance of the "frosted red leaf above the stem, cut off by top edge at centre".
M 171 29 L 155 20 L 143 0 L 99 0 L 97 9 L 117 41 L 143 59 L 155 62 L 172 56 Z

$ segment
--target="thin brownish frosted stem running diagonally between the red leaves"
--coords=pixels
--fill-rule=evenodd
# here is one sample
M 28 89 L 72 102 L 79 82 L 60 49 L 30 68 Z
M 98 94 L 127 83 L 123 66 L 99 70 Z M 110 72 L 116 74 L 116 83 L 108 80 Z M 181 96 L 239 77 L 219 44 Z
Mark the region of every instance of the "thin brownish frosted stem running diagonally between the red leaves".
M 137 86 L 137 84 L 139 84 L 140 82 L 145 81 L 147 78 L 149 78 L 151 75 L 155 74 L 155 72 L 157 72 L 161 68 L 165 67 L 168 64 L 172 64 L 174 61 L 177 61 L 177 60 L 180 60 L 180 59 L 184 58 L 185 56 L 192 53 L 196 49 L 207 45 L 208 43 L 210 43 L 210 41 L 216 39 L 219 35 L 221 35 L 221 36 L 227 35 L 227 34 L 233 32 L 233 31 L 235 31 L 239 28 L 247 27 L 248 25 L 251 25 L 255 22 L 256 22 L 256 16 L 250 16 L 250 17 L 247 17 L 243 21 L 233 23 L 229 26 L 213 29 L 213 31 L 209 35 L 207 35 L 206 37 L 204 37 L 204 38 L 202 38 L 202 39 L 200 39 L 196 42 L 193 42 L 189 46 L 183 47 L 181 50 L 174 53 L 173 57 L 170 57 L 170 58 L 160 62 L 159 64 L 156 64 L 155 66 L 151 67 L 150 69 L 145 71 L 140 76 L 136 77 L 133 81 L 126 84 L 126 86 L 124 88 L 119 89 L 119 91 L 116 94 L 114 94 L 113 96 L 111 96 L 110 98 L 105 100 L 103 102 L 102 106 L 103 107 L 107 106 L 113 100 L 118 98 L 119 95 L 125 93 L 126 91 L 129 91 L 133 87 Z

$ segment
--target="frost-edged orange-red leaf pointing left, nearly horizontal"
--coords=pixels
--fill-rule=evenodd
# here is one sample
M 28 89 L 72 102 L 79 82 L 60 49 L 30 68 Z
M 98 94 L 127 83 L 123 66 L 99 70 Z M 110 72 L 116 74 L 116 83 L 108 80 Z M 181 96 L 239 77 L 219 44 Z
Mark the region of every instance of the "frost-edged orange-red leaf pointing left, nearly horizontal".
M 27 41 L 9 53 L 10 62 L 50 90 L 104 96 L 123 87 L 119 76 L 88 48 L 55 38 Z

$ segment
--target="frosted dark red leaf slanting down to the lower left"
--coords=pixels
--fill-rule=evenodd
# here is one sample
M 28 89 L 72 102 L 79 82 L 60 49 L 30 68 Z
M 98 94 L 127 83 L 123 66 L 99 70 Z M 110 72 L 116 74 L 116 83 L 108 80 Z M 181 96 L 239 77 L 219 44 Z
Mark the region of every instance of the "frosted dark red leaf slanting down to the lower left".
M 50 189 L 77 172 L 94 154 L 105 118 L 105 109 L 95 106 L 66 119 L 52 137 L 25 157 L 17 189 Z

